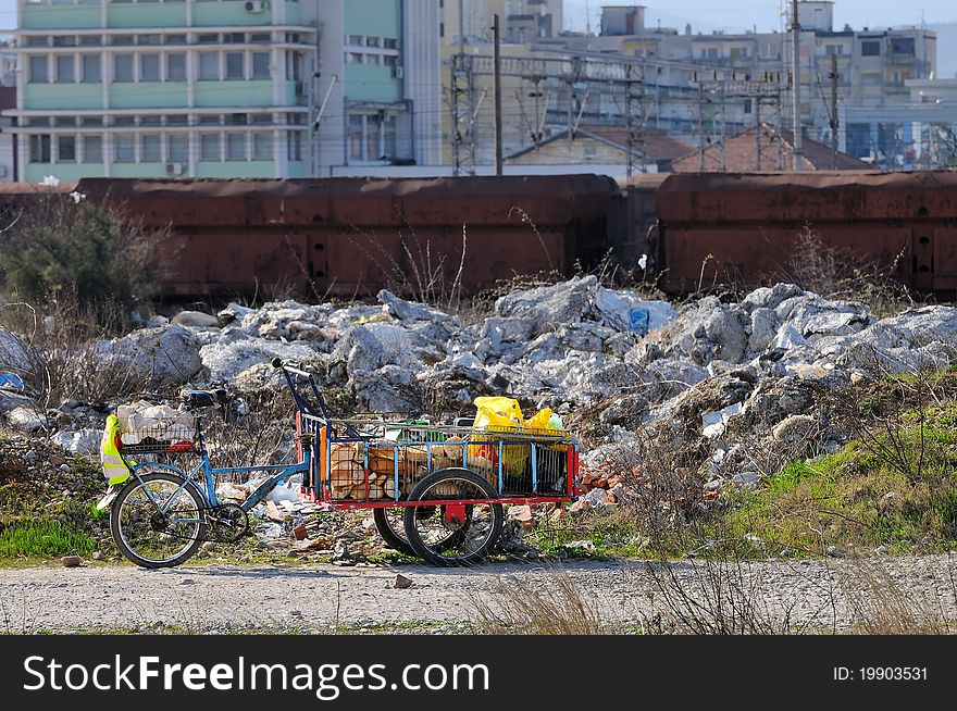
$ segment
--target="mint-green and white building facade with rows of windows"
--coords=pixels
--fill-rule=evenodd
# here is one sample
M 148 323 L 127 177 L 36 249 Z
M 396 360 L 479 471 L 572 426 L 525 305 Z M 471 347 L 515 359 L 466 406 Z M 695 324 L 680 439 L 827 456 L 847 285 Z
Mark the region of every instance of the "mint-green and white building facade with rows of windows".
M 437 103 L 438 17 L 410 34 L 421 13 L 406 7 L 421 4 L 18 0 L 16 177 L 300 177 L 425 159 L 414 117 Z M 431 55 L 428 91 L 405 70 Z

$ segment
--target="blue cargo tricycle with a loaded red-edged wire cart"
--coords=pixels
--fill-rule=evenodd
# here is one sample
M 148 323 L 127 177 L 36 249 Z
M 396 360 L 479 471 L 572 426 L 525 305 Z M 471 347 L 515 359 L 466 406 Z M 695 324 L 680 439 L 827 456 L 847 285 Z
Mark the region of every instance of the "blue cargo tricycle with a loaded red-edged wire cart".
M 564 433 L 488 433 L 427 422 L 334 419 L 312 375 L 296 363 L 282 370 L 296 406 L 298 461 L 213 466 L 202 417 L 135 433 L 120 456 L 129 478 L 101 501 L 121 553 L 142 567 L 172 567 L 202 542 L 235 542 L 249 532 L 249 512 L 275 487 L 301 475 L 300 498 L 328 509 L 372 509 L 393 548 L 437 565 L 482 560 L 497 542 L 504 503 L 571 501 L 576 491 L 576 442 Z M 307 383 L 307 397 L 297 383 Z M 191 391 L 195 407 L 217 395 Z M 182 420 L 182 419 L 181 419 Z M 198 453 L 189 472 L 165 462 L 136 463 L 137 454 Z M 222 502 L 216 478 L 266 474 L 243 503 Z M 108 500 L 109 499 L 109 500 Z M 399 519 L 401 523 L 399 523 Z

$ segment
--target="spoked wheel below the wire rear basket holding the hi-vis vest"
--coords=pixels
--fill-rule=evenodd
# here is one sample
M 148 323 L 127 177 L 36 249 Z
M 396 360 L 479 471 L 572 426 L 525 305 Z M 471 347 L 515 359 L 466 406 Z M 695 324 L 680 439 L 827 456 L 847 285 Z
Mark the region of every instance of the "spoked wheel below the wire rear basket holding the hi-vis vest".
M 132 478 L 110 510 L 110 532 L 124 558 L 142 567 L 173 567 L 206 538 L 199 488 L 171 471 Z

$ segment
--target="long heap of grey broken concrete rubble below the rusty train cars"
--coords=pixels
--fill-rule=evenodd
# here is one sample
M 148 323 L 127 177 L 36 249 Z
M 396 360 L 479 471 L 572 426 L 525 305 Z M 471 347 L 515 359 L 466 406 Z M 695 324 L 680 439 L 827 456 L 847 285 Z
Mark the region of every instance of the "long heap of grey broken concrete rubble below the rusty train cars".
M 957 362 L 955 308 L 879 320 L 863 304 L 792 284 L 738 302 L 706 297 L 676 308 L 587 276 L 517 290 L 472 323 L 389 291 L 377 301 L 232 303 L 215 316 L 158 319 L 91 349 L 145 387 L 279 388 L 269 363 L 293 359 L 370 412 L 468 412 L 477 396 L 509 395 L 530 408 L 573 413 L 573 427 L 588 423 L 585 461 L 593 467 L 657 424 L 678 445 L 694 440 L 707 450 L 705 479 L 745 484 L 760 477 L 748 459 L 757 441 L 840 442 L 816 410 L 820 392 Z M 0 373 L 25 349 L 0 332 Z M 94 450 L 101 417 L 115 406 L 64 402 L 45 412 L 13 390 L 0 389 L 0 412 L 21 428 L 54 433 L 70 451 Z M 620 482 L 600 475 L 585 486 L 593 508 L 622 495 Z

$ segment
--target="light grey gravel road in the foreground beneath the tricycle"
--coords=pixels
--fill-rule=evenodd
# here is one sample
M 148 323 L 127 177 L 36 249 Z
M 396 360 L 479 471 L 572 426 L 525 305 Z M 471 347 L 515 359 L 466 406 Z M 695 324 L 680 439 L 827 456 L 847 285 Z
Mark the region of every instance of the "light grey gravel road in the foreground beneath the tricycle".
M 870 571 L 862 574 L 863 570 Z M 672 579 L 668 570 L 666 578 Z M 680 562 L 670 566 L 684 591 L 713 609 L 716 597 L 775 627 L 846 627 L 860 612 L 896 611 L 954 619 L 957 560 L 947 557 L 765 561 L 724 570 Z M 667 611 L 679 586 L 656 584 L 642 562 L 566 562 L 581 597 L 609 626 L 641 624 Z M 396 574 L 412 579 L 395 588 Z M 476 599 L 508 606 L 502 586 L 558 589 L 555 567 L 520 563 L 471 570 L 395 567 L 189 566 L 145 571 L 126 565 L 0 571 L 0 607 L 8 632 L 133 629 L 189 633 L 373 631 L 430 628 L 456 633 L 478 619 Z M 721 595 L 712 583 L 724 582 Z M 660 576 L 659 576 L 659 579 Z M 730 585 L 729 585 L 730 584 Z M 710 601 L 709 601 L 710 600 Z M 904 612 L 903 607 L 910 612 Z M 725 608 L 729 611 L 730 608 Z

